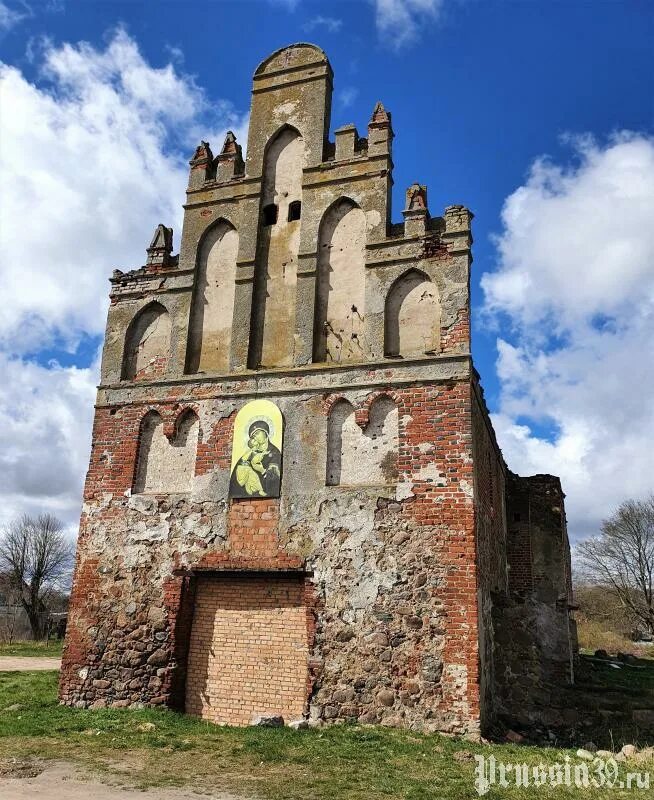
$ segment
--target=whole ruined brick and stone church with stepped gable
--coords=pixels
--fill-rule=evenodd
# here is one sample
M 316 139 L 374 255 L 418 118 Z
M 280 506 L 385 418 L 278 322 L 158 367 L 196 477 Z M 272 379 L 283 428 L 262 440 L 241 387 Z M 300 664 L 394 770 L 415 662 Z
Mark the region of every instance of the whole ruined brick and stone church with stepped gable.
M 329 138 L 318 47 L 190 162 L 179 255 L 111 278 L 60 697 L 476 735 L 572 681 L 558 478 L 470 354 L 472 213 L 393 222 L 391 114 Z

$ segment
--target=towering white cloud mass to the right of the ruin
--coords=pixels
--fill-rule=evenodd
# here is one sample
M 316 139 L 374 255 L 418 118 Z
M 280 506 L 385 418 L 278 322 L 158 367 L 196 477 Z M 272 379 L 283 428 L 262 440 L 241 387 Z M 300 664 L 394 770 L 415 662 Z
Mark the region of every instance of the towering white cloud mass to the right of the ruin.
M 509 466 L 552 472 L 583 536 L 654 488 L 654 139 L 571 139 L 505 202 L 482 276 L 498 339 L 494 424 Z

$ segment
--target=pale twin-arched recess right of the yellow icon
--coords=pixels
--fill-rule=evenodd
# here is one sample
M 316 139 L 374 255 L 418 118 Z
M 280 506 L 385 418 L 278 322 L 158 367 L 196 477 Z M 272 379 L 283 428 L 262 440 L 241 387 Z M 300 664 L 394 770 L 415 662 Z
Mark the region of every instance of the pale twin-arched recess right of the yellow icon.
M 380 486 L 397 481 L 399 414 L 386 395 L 370 406 L 368 425 L 361 430 L 347 400 L 332 408 L 327 423 L 329 486 Z

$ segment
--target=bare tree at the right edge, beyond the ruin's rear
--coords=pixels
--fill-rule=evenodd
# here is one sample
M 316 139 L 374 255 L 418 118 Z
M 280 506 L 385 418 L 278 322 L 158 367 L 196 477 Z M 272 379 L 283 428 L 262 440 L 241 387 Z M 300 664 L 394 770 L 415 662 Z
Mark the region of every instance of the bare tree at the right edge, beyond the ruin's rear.
M 577 555 L 584 578 L 610 589 L 654 633 L 654 495 L 622 503 L 599 536 L 577 546 Z

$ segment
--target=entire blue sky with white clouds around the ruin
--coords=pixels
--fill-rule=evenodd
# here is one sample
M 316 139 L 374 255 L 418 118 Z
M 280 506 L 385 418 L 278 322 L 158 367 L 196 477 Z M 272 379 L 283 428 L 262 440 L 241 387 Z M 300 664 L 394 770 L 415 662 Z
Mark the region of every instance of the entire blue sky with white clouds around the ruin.
M 252 72 L 294 41 L 332 63 L 332 131 L 392 111 L 396 221 L 416 180 L 432 214 L 474 211 L 509 465 L 562 475 L 574 536 L 654 490 L 649 2 L 0 0 L 4 513 L 74 524 L 106 277 L 158 222 L 178 236 L 194 144 L 245 144 Z

